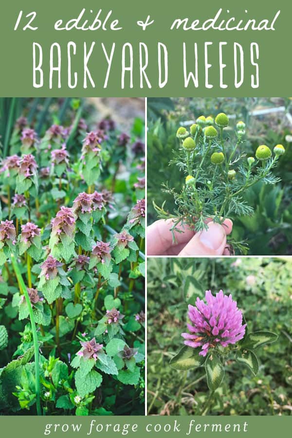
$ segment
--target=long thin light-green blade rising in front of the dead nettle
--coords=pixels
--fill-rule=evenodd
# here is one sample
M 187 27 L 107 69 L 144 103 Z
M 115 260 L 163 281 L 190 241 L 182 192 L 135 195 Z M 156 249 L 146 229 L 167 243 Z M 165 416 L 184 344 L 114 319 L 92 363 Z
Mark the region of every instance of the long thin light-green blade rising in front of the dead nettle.
M 24 284 L 22 275 L 20 274 L 18 263 L 16 261 L 15 255 L 11 254 L 11 263 L 14 269 L 14 272 L 18 279 L 18 284 L 21 285 L 21 289 L 23 291 L 25 301 L 28 307 L 30 322 L 32 326 L 33 332 L 33 342 L 34 342 L 34 350 L 35 350 L 35 376 L 36 376 L 36 404 L 37 404 L 37 415 L 41 415 L 41 406 L 40 406 L 40 383 L 39 383 L 39 348 L 38 348 L 38 340 L 37 340 L 37 327 L 35 322 L 35 315 L 33 312 L 33 308 L 27 293 L 26 286 Z M 21 290 L 20 290 L 21 292 Z

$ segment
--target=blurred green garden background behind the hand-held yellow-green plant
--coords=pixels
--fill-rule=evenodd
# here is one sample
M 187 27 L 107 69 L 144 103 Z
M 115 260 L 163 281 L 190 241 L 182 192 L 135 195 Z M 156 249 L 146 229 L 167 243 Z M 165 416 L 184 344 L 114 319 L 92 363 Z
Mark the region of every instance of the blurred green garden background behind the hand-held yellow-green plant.
M 147 110 L 148 225 L 157 219 L 152 201 L 161 206 L 166 200 L 164 209 L 174 210 L 173 198 L 162 192 L 162 183 L 168 182 L 177 191 L 182 186 L 183 175 L 179 168 L 169 166 L 179 146 L 177 128 L 190 126 L 201 114 L 216 116 L 225 112 L 230 117 L 230 130 L 238 120 L 246 123 L 247 155 L 254 155 L 257 146 L 262 144 L 271 148 L 282 144 L 286 148 L 274 170 L 281 183 L 272 186 L 260 182 L 248 190 L 245 199 L 255 213 L 252 217 L 235 219 L 233 236 L 249 243 L 251 255 L 292 254 L 291 98 L 149 98 Z

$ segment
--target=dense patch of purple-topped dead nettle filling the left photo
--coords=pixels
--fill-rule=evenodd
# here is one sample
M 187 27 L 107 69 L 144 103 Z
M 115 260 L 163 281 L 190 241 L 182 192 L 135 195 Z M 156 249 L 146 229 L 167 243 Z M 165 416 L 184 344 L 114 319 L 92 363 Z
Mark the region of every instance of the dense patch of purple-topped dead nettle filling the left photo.
M 2 159 L 1 413 L 144 412 L 144 144 L 88 131 L 21 117 Z

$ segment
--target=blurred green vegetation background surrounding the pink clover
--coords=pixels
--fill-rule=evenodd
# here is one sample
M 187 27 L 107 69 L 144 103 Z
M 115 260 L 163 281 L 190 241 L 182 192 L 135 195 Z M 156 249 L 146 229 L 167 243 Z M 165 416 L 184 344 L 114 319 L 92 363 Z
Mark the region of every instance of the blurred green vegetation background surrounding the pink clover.
M 282 258 L 148 259 L 147 399 L 150 415 L 195 415 L 208 396 L 200 369 L 169 366 L 183 346 L 187 305 L 204 292 L 231 293 L 250 331 L 270 330 L 278 340 L 259 348 L 259 371 L 234 361 L 215 393 L 209 415 L 292 415 L 292 260 Z

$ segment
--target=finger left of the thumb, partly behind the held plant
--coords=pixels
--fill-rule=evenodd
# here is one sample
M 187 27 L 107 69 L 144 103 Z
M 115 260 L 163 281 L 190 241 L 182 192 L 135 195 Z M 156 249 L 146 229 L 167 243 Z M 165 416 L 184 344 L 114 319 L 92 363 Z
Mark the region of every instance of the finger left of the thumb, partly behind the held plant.
M 172 233 L 170 231 L 172 226 L 172 219 L 160 219 L 147 228 L 148 256 L 161 256 L 173 246 Z M 174 236 L 178 245 L 182 243 L 185 244 L 194 236 L 194 232 L 187 226 L 178 225 L 176 228 L 182 231 L 182 233 L 174 231 Z

